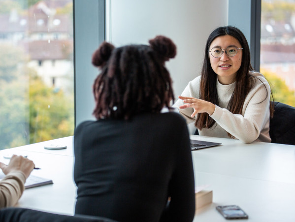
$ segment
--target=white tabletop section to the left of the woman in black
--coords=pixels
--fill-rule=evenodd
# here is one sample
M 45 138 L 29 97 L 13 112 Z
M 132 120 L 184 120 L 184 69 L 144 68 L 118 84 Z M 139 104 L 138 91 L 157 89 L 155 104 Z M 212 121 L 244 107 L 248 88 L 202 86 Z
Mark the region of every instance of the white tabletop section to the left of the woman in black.
M 45 149 L 44 145 L 65 144 L 66 149 Z M 73 136 L 18 148 L 0 151 L 0 161 L 6 153 L 27 155 L 40 170 L 32 174 L 53 181 L 52 185 L 44 185 L 26 189 L 18 202 L 18 207 L 54 212 L 66 215 L 74 214 L 76 201 L 76 185 L 73 181 Z

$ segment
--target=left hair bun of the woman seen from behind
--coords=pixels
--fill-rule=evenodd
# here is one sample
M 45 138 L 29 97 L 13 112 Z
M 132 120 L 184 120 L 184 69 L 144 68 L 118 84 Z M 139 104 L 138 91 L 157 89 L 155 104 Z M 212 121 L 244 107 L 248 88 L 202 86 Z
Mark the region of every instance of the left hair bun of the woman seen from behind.
M 110 58 L 114 48 L 115 46 L 111 43 L 102 42 L 92 55 L 92 64 L 96 67 L 103 66 Z

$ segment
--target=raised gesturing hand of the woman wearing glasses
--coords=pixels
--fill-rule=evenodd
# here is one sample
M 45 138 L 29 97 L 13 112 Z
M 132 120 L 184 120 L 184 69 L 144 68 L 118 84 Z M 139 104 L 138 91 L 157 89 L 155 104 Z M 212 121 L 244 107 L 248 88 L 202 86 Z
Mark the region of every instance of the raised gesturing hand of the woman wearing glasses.
M 186 109 L 186 108 L 194 108 L 194 112 L 191 115 L 194 117 L 197 115 L 199 112 L 207 112 L 209 115 L 212 115 L 213 112 L 215 111 L 215 105 L 205 101 L 205 100 L 200 100 L 196 99 L 194 97 L 185 97 L 185 96 L 178 96 L 179 99 L 183 100 L 184 105 L 180 106 L 180 109 Z

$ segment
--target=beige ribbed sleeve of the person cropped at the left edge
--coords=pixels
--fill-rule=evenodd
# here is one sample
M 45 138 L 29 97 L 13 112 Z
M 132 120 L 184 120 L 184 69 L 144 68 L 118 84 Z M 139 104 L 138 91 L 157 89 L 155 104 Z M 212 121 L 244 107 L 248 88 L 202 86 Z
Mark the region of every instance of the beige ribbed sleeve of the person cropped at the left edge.
M 0 181 L 0 208 L 14 206 L 25 189 L 26 177 L 21 171 L 7 174 Z

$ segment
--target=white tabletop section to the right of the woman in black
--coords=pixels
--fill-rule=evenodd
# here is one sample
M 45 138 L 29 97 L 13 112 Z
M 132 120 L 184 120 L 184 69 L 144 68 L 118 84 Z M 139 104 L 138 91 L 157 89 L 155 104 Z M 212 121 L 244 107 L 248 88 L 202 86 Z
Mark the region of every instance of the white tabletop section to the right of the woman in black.
M 249 222 L 295 221 L 295 146 L 191 138 L 222 143 L 192 151 L 196 184 L 213 190 L 213 203 L 199 209 L 194 222 L 224 222 L 215 207 L 232 204 Z

